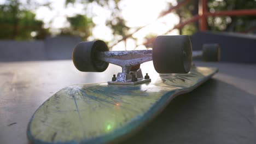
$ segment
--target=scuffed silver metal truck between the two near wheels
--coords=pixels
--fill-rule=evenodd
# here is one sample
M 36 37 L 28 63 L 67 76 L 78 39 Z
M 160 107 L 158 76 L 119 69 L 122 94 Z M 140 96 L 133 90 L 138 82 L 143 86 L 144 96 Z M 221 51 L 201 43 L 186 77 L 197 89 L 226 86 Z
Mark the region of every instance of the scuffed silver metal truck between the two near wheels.
M 151 79 L 144 79 L 141 63 L 152 61 L 152 50 L 137 51 L 104 51 L 97 53 L 97 59 L 119 65 L 122 73 L 117 74 L 117 79 L 108 81 L 109 84 L 136 85 L 149 82 Z

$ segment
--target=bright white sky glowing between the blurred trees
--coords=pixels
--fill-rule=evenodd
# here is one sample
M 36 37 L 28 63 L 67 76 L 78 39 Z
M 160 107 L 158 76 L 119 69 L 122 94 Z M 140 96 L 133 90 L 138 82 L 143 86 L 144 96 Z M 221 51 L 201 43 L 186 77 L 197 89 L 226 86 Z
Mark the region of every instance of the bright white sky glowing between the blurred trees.
M 0 0 L 0 4 L 4 3 L 4 1 L 5 0 Z M 20 1 L 26 2 L 26 0 Z M 110 11 L 98 6 L 95 3 L 88 5 L 75 3 L 74 5 L 69 4 L 67 7 L 65 7 L 65 0 L 34 1 L 39 4 L 51 2 L 50 7 L 52 9 L 42 6 L 34 9 L 33 11 L 36 13 L 36 19 L 43 20 L 45 27 L 49 27 L 53 32 L 58 32 L 60 31 L 60 28 L 69 26 L 66 16 L 86 14 L 87 16 L 92 16 L 92 20 L 96 24 L 96 27 L 92 29 L 92 37 L 90 37 L 89 40 L 101 39 L 105 41 L 113 41 L 113 39 L 117 39 L 113 37 L 110 28 L 105 25 L 105 21 L 110 17 Z M 179 22 L 179 18 L 175 14 L 168 14 L 156 21 L 160 12 L 168 9 L 167 2 L 171 2 L 173 5 L 177 4 L 176 0 L 122 0 L 120 2 L 119 7 L 122 10 L 121 15 L 126 20 L 127 26 L 141 27 L 147 25 L 147 27 L 141 29 L 141 31 L 133 34 L 133 37 L 138 39 L 138 43 L 143 43 L 143 38 L 147 34 L 153 33 L 156 35 L 161 35 Z M 88 9 L 85 10 L 85 7 Z M 170 34 L 177 35 L 178 31 L 172 31 Z M 135 41 L 128 40 L 128 43 L 129 44 L 127 44 L 127 47 L 135 46 Z

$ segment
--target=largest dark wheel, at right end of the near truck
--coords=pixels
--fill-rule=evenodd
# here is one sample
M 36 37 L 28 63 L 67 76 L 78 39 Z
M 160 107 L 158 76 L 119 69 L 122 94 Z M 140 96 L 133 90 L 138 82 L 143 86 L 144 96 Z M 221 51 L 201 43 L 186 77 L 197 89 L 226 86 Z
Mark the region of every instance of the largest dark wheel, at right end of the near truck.
M 160 35 L 153 44 L 153 64 L 158 73 L 185 74 L 192 64 L 188 35 Z

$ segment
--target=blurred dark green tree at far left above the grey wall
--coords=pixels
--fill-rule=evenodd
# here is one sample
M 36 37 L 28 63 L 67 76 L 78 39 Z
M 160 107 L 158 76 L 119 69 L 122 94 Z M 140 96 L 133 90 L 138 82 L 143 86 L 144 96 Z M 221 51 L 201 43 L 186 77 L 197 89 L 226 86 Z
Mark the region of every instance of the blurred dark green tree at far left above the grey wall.
M 43 21 L 35 17 L 32 11 L 22 8 L 18 0 L 5 1 L 0 5 L 0 39 L 43 39 L 49 31 L 43 28 Z

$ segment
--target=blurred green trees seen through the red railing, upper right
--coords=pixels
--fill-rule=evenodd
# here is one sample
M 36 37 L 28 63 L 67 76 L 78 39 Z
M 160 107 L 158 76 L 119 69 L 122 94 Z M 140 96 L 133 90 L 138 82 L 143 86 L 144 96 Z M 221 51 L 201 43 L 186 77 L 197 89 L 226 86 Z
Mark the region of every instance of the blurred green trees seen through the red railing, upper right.
M 182 2 L 183 0 L 177 0 Z M 199 0 L 191 1 L 184 7 L 176 10 L 176 14 L 180 17 L 180 23 L 189 20 L 193 15 L 198 14 Z M 171 5 L 172 6 L 172 5 Z M 170 7 L 171 7 L 170 6 Z M 208 11 L 238 10 L 238 9 L 254 9 L 256 8 L 255 0 L 208 0 Z M 224 17 L 208 17 L 207 29 L 210 31 L 226 31 L 226 32 L 251 32 L 256 29 L 255 16 L 224 16 Z M 180 34 L 193 34 L 199 31 L 199 23 L 190 23 L 179 29 Z

